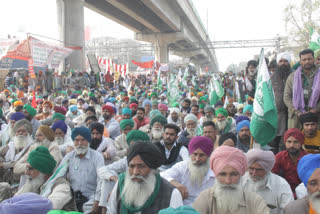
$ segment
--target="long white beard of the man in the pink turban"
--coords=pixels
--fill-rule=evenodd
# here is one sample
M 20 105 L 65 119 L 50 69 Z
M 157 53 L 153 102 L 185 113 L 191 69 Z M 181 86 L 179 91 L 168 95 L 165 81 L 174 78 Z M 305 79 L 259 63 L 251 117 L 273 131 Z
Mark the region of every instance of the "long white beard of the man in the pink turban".
M 238 184 L 221 184 L 218 179 L 213 186 L 219 214 L 234 213 L 243 198 L 240 182 Z

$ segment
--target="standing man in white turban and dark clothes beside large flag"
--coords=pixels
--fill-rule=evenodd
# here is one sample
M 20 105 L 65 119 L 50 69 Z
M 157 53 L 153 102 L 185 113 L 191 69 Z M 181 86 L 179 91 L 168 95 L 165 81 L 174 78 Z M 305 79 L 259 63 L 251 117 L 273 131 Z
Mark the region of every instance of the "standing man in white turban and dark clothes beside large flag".
M 276 138 L 269 144 L 274 154 L 279 152 L 281 138 L 287 130 L 288 108 L 283 101 L 284 86 L 290 75 L 291 56 L 287 52 L 278 54 L 277 69 L 271 76 L 271 83 L 274 91 L 276 107 L 278 111 L 278 129 Z

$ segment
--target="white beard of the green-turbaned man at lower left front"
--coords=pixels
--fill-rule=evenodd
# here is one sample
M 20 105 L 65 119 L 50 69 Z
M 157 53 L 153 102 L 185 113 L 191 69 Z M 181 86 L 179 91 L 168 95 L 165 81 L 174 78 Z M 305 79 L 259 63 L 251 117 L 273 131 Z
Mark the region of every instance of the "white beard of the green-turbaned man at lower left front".
M 36 178 L 32 178 L 31 176 L 27 176 L 27 182 L 21 187 L 21 189 L 16 193 L 16 195 L 21 195 L 27 192 L 33 192 L 36 194 L 40 193 L 40 187 L 46 181 L 45 175 L 40 173 Z

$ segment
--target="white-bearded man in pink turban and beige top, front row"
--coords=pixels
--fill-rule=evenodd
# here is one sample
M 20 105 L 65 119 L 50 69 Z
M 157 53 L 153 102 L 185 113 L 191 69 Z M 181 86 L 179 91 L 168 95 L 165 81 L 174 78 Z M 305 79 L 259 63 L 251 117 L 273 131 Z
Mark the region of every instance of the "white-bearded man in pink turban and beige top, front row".
M 210 168 L 216 176 L 212 188 L 204 190 L 193 203 L 200 213 L 268 214 L 261 196 L 242 188 L 240 179 L 247 170 L 245 154 L 234 147 L 220 146 L 210 157 Z

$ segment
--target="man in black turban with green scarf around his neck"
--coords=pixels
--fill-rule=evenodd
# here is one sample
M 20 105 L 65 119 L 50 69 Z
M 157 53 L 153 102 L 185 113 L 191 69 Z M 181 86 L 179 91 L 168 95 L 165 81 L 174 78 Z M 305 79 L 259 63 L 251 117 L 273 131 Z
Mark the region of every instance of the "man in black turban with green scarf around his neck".
M 108 202 L 108 213 L 158 213 L 167 207 L 183 205 L 182 197 L 157 168 L 162 164 L 160 150 L 150 142 L 129 147 L 128 170 L 119 176 Z

